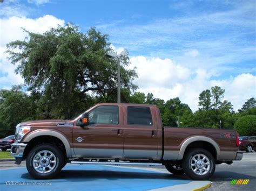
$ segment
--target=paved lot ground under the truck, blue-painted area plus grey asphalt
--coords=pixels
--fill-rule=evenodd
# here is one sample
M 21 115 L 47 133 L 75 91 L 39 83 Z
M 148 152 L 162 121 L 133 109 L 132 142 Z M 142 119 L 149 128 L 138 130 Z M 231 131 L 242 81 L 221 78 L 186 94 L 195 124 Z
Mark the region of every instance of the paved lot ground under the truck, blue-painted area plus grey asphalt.
M 12 181 L 12 179 L 26 182 L 35 181 L 24 167 L 24 161 L 22 165 L 15 165 L 14 161 L 1 161 L 0 188 L 6 189 L 5 182 Z M 6 176 L 6 172 L 9 173 L 9 176 Z M 232 179 L 250 179 L 250 181 L 248 185 L 231 185 Z M 244 153 L 242 161 L 234 161 L 232 165 L 217 165 L 215 173 L 210 179 L 212 187 L 207 190 L 255 190 L 255 179 L 256 153 Z M 174 185 L 185 188 L 191 182 L 186 175 L 172 175 L 162 166 L 113 167 L 106 165 L 67 165 L 63 168 L 59 178 L 49 181 L 52 182 L 52 185 L 46 188 L 38 186 L 36 189 L 58 190 L 60 189 L 58 185 L 66 185 L 65 189 L 71 190 L 76 185 L 76 189 L 83 189 L 86 186 L 86 190 L 150 190 L 160 187 L 170 188 Z M 15 188 L 17 189 L 17 186 Z M 35 187 L 21 186 L 20 189 L 28 190 L 35 189 Z

